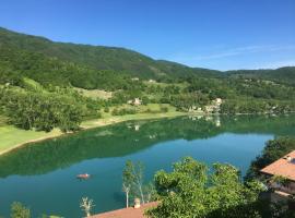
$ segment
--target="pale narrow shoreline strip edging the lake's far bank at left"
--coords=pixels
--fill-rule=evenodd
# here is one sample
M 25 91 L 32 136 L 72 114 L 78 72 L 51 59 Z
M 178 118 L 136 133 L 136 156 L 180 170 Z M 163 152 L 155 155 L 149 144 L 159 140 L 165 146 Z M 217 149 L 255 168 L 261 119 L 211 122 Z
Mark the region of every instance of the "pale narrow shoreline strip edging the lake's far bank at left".
M 87 120 L 81 123 L 81 130 L 79 130 L 78 132 L 71 132 L 71 133 L 62 133 L 59 130 L 54 130 L 49 133 L 46 133 L 48 135 L 44 135 L 40 137 L 36 137 L 36 138 L 32 138 L 32 140 L 24 140 L 24 142 L 22 143 L 17 143 L 15 145 L 10 146 L 7 149 L 0 150 L 0 156 L 11 153 L 15 149 L 19 149 L 23 146 L 26 146 L 28 144 L 32 143 L 38 143 L 38 142 L 43 142 L 46 140 L 54 140 L 54 138 L 58 138 L 60 136 L 67 136 L 70 134 L 75 134 L 79 133 L 81 131 L 87 131 L 91 129 L 96 129 L 96 128 L 103 128 L 103 126 L 107 126 L 107 125 L 113 125 L 113 124 L 117 124 L 117 123 L 121 123 L 125 121 L 132 121 L 132 120 L 153 120 L 153 119 L 163 119 L 163 118 L 177 118 L 177 117 L 181 117 L 181 116 L 188 116 L 190 113 L 188 112 L 166 112 L 166 113 L 138 113 L 138 114 L 127 114 L 127 116 L 118 116 L 118 117 L 109 117 L 109 118 L 102 118 L 102 119 L 95 119 L 95 120 Z M 202 113 L 203 116 L 203 113 Z

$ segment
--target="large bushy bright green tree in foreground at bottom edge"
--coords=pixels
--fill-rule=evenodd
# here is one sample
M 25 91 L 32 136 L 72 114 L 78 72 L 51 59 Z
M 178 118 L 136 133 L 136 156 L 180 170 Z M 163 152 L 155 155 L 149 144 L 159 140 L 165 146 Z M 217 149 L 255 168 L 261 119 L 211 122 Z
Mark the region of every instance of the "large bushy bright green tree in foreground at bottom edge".
M 161 203 L 148 211 L 151 217 L 260 217 L 256 202 L 261 189 L 243 184 L 231 165 L 215 164 L 209 174 L 204 164 L 187 157 L 154 180 Z

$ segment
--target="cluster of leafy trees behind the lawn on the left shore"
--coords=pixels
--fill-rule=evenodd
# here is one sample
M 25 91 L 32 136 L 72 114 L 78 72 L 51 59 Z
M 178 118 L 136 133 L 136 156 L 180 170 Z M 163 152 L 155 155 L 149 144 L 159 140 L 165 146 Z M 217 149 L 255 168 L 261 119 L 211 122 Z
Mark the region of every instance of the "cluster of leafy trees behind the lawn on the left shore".
M 0 110 L 24 130 L 76 131 L 84 119 L 99 117 L 102 104 L 70 89 L 0 87 Z

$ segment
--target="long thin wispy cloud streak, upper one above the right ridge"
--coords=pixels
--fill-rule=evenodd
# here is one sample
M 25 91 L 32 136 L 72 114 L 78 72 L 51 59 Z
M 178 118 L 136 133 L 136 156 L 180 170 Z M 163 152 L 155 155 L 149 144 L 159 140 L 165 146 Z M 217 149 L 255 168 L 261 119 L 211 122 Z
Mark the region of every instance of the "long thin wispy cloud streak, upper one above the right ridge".
M 177 59 L 178 61 L 200 61 L 200 60 L 222 59 L 222 58 L 249 55 L 249 53 L 283 51 L 283 50 L 295 50 L 295 45 L 246 46 L 246 47 L 217 50 L 217 51 L 206 53 L 206 55 L 198 55 L 198 56 L 186 56 L 186 55 L 179 56 L 178 55 L 178 56 L 175 56 L 174 59 Z

